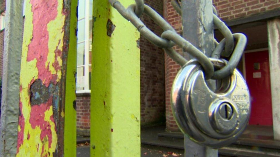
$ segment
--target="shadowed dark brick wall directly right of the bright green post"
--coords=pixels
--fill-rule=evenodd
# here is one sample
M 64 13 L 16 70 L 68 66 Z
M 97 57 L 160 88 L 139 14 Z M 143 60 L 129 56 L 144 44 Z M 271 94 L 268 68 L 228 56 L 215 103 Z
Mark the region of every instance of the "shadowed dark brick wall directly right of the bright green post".
M 163 14 L 162 0 L 145 0 L 161 15 Z M 162 29 L 147 15 L 141 20 L 157 35 Z M 164 51 L 140 37 L 140 66 L 141 66 L 141 126 L 165 122 L 165 88 L 164 88 Z

